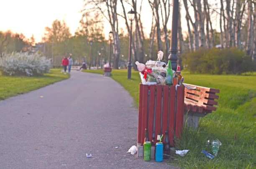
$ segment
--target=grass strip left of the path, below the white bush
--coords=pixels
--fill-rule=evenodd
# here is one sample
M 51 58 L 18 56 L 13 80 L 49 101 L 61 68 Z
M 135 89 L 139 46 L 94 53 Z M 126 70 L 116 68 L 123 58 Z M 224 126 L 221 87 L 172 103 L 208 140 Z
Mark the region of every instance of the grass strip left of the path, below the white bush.
M 69 73 L 64 75 L 61 73 L 61 69 L 55 68 L 44 76 L 38 77 L 3 76 L 0 73 L 0 100 L 27 93 L 67 78 L 69 78 Z

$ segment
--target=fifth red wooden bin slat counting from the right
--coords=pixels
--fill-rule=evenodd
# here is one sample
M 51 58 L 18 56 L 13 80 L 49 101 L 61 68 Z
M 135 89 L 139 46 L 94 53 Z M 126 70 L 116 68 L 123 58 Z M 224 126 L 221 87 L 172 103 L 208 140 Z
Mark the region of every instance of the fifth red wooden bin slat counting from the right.
M 148 110 L 148 141 L 152 141 L 156 85 L 150 86 Z

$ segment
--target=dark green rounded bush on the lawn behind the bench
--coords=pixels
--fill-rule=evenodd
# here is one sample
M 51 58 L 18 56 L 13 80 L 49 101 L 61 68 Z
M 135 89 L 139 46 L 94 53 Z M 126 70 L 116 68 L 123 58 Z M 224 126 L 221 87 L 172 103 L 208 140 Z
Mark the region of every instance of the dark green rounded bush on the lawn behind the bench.
M 251 57 L 236 48 L 200 48 L 182 55 L 182 61 L 192 73 L 240 74 L 253 71 Z

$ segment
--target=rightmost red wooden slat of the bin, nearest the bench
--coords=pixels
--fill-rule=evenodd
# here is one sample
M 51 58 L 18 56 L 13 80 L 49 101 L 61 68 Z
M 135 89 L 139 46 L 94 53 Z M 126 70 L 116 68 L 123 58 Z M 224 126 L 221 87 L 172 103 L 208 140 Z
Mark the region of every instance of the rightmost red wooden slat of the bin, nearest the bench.
M 180 139 L 180 134 L 183 127 L 183 116 L 184 116 L 184 86 L 177 86 L 175 134 L 178 139 Z

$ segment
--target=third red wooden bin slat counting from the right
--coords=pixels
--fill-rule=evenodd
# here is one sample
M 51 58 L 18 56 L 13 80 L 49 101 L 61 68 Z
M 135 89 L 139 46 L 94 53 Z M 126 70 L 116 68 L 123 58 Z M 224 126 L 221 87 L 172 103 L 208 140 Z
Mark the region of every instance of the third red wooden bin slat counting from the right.
M 165 136 L 165 131 L 168 130 L 168 92 L 169 86 L 163 87 L 163 116 L 162 116 L 162 134 Z M 164 138 L 163 136 L 163 138 Z

